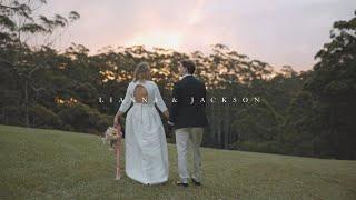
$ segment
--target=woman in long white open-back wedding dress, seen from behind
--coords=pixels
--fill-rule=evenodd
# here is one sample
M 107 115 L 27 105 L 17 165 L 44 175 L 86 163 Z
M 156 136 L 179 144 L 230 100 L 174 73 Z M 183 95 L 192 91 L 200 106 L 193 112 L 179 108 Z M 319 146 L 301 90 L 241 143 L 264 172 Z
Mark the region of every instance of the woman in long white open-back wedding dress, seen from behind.
M 155 108 L 169 117 L 159 89 L 150 81 L 149 66 L 137 66 L 125 99 L 115 116 L 113 126 L 134 102 L 126 117 L 126 173 L 144 184 L 162 183 L 168 180 L 168 150 L 165 129 Z

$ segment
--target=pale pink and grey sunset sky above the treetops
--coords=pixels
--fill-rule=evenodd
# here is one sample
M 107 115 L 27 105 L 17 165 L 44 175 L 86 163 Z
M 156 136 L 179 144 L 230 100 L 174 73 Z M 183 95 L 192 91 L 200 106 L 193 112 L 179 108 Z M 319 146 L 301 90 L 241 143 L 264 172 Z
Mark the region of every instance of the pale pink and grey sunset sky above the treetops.
M 71 42 L 96 53 L 111 46 L 144 44 L 177 51 L 222 43 L 278 68 L 308 70 L 329 41 L 336 20 L 348 20 L 355 0 L 48 0 L 46 14 L 77 11 L 80 20 L 60 32 L 55 44 Z

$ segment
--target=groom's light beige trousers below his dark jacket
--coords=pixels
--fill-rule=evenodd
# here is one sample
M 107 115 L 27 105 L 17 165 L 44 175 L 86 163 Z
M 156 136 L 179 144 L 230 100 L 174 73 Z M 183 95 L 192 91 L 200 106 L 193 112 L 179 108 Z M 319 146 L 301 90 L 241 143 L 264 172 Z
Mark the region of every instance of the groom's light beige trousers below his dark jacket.
M 176 143 L 177 143 L 177 153 L 178 153 L 178 172 L 181 182 L 188 182 L 189 171 L 188 171 L 188 147 L 190 143 L 192 150 L 194 159 L 194 171 L 192 178 L 196 181 L 201 181 L 201 156 L 199 147 L 201 144 L 204 128 L 191 127 L 191 128 L 181 128 L 176 131 Z

